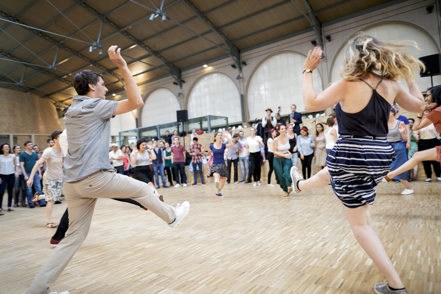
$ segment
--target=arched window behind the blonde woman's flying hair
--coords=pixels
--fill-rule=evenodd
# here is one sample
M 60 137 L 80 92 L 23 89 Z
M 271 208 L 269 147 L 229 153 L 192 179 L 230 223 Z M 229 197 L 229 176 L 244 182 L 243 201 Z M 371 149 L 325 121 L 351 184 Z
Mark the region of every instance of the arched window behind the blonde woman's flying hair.
M 418 47 L 421 50 L 418 50 L 417 48 L 411 46 L 404 47 L 404 49 L 410 52 L 412 56 L 414 56 L 417 59 L 421 56 L 439 53 L 438 46 L 436 45 L 432 37 L 430 37 L 430 35 L 428 35 L 424 30 L 421 30 L 420 28 L 405 22 L 381 23 L 367 27 L 361 31 L 368 36 L 377 38 L 380 41 L 390 41 L 390 40 L 415 41 L 418 43 Z M 338 81 L 341 78 L 340 74 L 338 73 L 343 68 L 344 52 L 346 50 L 346 44 L 347 43 L 345 43 L 340 48 L 340 51 L 337 53 L 336 57 L 334 58 L 333 67 L 331 70 L 332 82 Z M 441 77 L 439 75 L 434 76 L 433 79 L 434 79 L 434 85 L 441 84 Z M 400 82 L 402 82 L 407 88 L 407 84 L 405 81 L 401 80 Z M 427 89 L 431 85 L 430 77 L 426 77 L 426 78 L 417 77 L 417 83 L 420 89 L 422 90 Z

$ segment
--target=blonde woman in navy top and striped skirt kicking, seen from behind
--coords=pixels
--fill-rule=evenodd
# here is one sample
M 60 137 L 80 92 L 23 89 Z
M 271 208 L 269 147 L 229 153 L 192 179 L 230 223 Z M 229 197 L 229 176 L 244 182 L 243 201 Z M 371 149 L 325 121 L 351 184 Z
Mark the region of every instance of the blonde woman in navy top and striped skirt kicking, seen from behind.
M 328 166 L 302 181 L 296 167 L 291 169 L 292 187 L 301 190 L 329 182 L 342 202 L 355 238 L 388 280 L 376 284 L 377 294 L 407 294 L 392 262 L 370 223 L 369 205 L 375 186 L 390 170 L 393 148 L 386 140 L 391 105 L 394 101 L 410 112 L 424 108 L 424 98 L 415 83 L 415 73 L 424 65 L 400 47 L 415 42 L 382 42 L 363 33 L 348 41 L 343 79 L 323 92 L 314 91 L 311 71 L 320 63 L 321 48 L 306 57 L 303 78 L 305 110 L 320 111 L 336 105 L 340 137 L 327 157 Z M 374 73 L 377 72 L 378 74 Z M 398 79 L 407 81 L 409 91 Z

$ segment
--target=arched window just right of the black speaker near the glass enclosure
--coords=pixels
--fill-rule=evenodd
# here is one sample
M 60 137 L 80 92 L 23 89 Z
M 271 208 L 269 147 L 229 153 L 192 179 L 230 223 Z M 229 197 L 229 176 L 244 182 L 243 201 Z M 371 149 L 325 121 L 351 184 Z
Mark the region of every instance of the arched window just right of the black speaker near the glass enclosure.
M 242 121 L 239 90 L 231 78 L 221 73 L 207 74 L 193 86 L 187 110 L 189 119 L 218 115 L 228 117 L 228 123 Z

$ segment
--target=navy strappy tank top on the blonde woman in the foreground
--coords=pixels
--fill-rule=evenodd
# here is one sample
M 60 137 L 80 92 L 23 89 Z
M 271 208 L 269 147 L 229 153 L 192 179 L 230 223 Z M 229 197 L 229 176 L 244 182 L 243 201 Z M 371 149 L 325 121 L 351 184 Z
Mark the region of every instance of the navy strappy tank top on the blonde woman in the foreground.
M 360 78 L 360 80 L 362 80 Z M 362 80 L 363 81 L 363 80 Z M 363 110 L 355 113 L 344 112 L 340 103 L 335 107 L 340 135 L 386 137 L 389 132 L 387 122 L 391 105 L 377 92 L 381 81 L 374 88 L 369 103 Z

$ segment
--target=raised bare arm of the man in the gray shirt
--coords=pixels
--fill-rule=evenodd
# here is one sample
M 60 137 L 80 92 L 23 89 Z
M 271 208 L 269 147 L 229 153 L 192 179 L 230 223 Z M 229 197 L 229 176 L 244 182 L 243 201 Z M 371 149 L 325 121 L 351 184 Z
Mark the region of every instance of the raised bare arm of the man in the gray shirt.
M 118 46 L 110 46 L 107 52 L 110 60 L 115 63 L 115 65 L 120 69 L 121 74 L 123 75 L 124 82 L 126 83 L 127 99 L 121 100 L 118 103 L 118 106 L 116 107 L 115 112 L 113 112 L 113 115 L 131 112 L 132 110 L 138 109 L 142 105 L 144 105 L 141 93 L 139 93 L 138 85 L 136 85 L 135 79 L 129 71 L 126 61 L 121 56 L 121 48 L 118 48 L 115 52 L 116 48 L 118 48 Z

